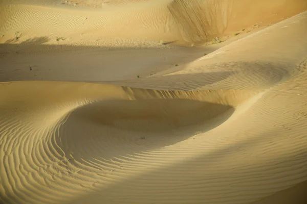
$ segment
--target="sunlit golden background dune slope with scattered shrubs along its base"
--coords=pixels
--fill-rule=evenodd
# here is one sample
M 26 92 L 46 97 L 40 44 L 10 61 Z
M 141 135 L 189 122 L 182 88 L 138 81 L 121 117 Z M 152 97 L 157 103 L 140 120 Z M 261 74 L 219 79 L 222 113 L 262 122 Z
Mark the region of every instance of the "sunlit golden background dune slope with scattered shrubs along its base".
M 114 3 L 116 1 L 106 4 Z M 127 5 L 88 11 L 4 2 L 0 5 L 4 11 L 0 16 L 3 19 L 0 30 L 5 36 L 0 42 L 14 39 L 14 34 L 23 30 L 22 35 L 19 33 L 19 41 L 27 36 L 47 36 L 52 43 L 57 42 L 56 39 L 66 39 L 65 43 L 69 44 L 97 39 L 143 39 L 191 45 L 247 29 L 254 23 L 278 22 L 307 7 L 304 0 L 296 0 L 295 4 L 290 0 L 282 3 L 280 0 L 176 0 L 141 1 L 141 4 L 137 1 Z M 249 5 L 253 5 L 255 11 L 245 12 Z M 258 15 L 256 8 L 264 14 Z M 69 27 L 66 26 L 68 22 Z

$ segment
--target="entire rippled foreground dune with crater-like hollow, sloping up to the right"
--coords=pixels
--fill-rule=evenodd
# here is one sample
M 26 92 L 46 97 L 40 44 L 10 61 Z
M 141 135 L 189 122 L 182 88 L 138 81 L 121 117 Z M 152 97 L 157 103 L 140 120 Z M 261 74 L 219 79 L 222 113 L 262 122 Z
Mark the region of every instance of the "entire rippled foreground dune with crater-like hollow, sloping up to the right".
M 0 202 L 301 201 L 306 22 L 304 12 L 179 70 L 108 82 L 121 86 L 0 83 Z

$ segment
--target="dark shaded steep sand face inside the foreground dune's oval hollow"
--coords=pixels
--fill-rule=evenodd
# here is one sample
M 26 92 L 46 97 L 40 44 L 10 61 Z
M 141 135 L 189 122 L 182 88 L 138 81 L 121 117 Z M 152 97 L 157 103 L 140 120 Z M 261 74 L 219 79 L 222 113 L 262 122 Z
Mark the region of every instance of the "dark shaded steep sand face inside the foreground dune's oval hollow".
M 233 107 L 189 99 L 110 100 L 79 108 L 70 117 L 126 131 L 164 132 L 202 123 L 229 109 Z

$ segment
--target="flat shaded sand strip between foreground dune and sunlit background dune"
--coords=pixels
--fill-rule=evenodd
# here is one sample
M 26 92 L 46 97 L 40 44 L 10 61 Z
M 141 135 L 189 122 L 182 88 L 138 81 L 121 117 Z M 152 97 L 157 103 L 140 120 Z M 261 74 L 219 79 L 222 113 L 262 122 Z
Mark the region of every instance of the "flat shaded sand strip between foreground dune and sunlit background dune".
M 43 44 L 48 40 L 40 37 L 19 44 L 0 44 L 0 82 L 114 81 L 138 79 L 138 75 L 146 78 L 176 64 L 180 65 L 179 70 L 184 69 L 185 64 L 214 51 L 210 47 L 171 44 L 161 47 Z

